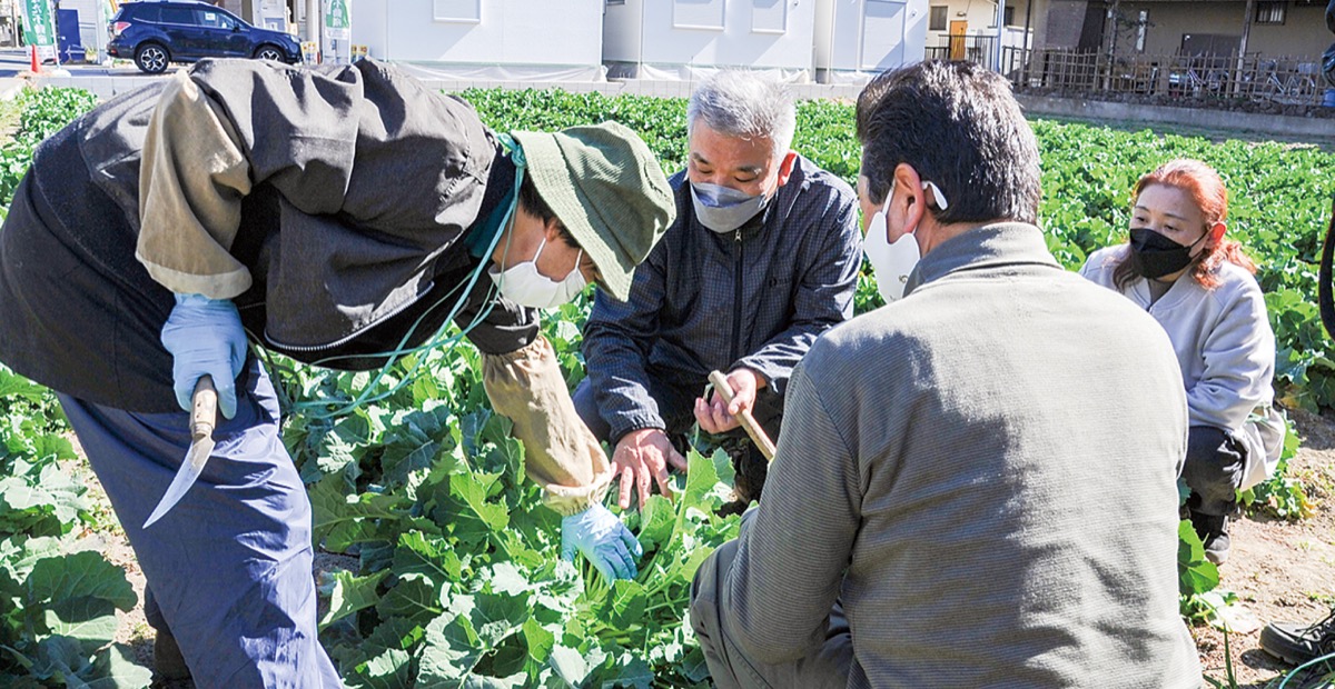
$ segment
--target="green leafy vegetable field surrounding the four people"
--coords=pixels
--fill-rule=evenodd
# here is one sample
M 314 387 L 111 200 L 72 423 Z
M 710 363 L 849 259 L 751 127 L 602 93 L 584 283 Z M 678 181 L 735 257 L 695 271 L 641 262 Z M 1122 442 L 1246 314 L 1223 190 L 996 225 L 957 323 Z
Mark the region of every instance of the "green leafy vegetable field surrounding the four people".
M 685 160 L 682 100 L 559 91 L 463 97 L 498 131 L 611 119 L 639 132 L 665 169 Z M 92 103 L 75 91 L 21 97 L 19 129 L 0 152 L 0 200 L 8 204 L 33 144 Z M 1262 265 L 1280 398 L 1306 409 L 1335 405 L 1335 357 L 1315 304 L 1335 156 L 1081 124 L 1033 127 L 1044 165 L 1041 224 L 1071 269 L 1123 241 L 1139 175 L 1177 156 L 1215 165 L 1231 191 L 1230 233 Z M 802 104 L 794 148 L 854 183 L 852 107 Z M 864 276 L 857 308 L 877 305 Z M 571 386 L 583 374 L 586 315 L 581 299 L 545 323 Z M 386 377 L 276 358 L 268 365 L 294 412 L 284 438 L 310 490 L 316 545 L 358 561 L 320 582 L 330 601 L 322 641 L 348 686 L 708 685 L 682 618 L 696 568 L 737 534 L 738 517 L 717 514 L 730 500 L 722 453 L 701 442 L 689 473 L 677 477 L 681 500 L 654 497 L 625 516 L 645 557 L 635 581 L 609 586 L 590 566 L 559 560 L 559 518 L 523 480 L 523 449 L 509 437 L 509 421 L 491 413 L 470 346 L 406 357 Z M 378 401 L 344 410 L 364 398 Z M 136 597 L 125 573 L 87 538 L 116 525 L 69 477 L 76 454 L 65 433 L 51 392 L 0 368 L 0 685 L 147 686 L 148 670 L 111 644 L 115 612 Z M 1295 449 L 1291 437 L 1288 454 Z M 1280 517 L 1306 509 L 1302 486 L 1283 476 L 1246 497 Z M 1184 614 L 1204 618 L 1227 602 L 1211 592 L 1218 572 L 1189 526 L 1180 570 Z

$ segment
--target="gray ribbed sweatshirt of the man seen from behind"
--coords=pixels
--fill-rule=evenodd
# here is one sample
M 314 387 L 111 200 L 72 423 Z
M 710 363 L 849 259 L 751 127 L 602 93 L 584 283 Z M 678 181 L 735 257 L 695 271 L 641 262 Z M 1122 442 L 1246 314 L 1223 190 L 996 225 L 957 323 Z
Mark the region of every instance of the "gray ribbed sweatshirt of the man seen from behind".
M 725 582 L 732 637 L 802 657 L 840 597 L 852 688 L 1197 689 L 1163 329 L 1032 225 L 951 239 L 909 287 L 797 366 Z

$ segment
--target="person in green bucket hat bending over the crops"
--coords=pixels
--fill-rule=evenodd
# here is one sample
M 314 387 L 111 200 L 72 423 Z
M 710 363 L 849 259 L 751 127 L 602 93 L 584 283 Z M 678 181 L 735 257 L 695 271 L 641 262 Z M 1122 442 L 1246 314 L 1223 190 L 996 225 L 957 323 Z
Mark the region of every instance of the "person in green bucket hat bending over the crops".
M 316 637 L 311 502 L 248 344 L 370 369 L 453 320 L 563 516 L 563 552 L 634 576 L 639 546 L 602 506 L 610 465 L 537 309 L 594 280 L 627 296 L 673 212 L 629 129 L 498 135 L 374 60 L 203 61 L 43 143 L 0 231 L 0 361 L 57 392 L 107 489 L 148 580 L 159 674 L 342 686 Z M 204 376 L 212 458 L 144 528 Z

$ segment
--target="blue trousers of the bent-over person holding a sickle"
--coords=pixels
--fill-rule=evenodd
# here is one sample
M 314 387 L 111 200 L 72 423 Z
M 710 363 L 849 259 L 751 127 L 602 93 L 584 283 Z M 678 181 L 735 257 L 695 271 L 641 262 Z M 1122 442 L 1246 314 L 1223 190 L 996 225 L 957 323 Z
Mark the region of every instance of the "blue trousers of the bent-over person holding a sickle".
M 272 384 L 258 361 L 248 366 L 204 473 L 147 530 L 190 448 L 188 414 L 60 404 L 148 580 L 150 624 L 176 637 L 195 686 L 340 688 L 316 638 L 310 498 Z

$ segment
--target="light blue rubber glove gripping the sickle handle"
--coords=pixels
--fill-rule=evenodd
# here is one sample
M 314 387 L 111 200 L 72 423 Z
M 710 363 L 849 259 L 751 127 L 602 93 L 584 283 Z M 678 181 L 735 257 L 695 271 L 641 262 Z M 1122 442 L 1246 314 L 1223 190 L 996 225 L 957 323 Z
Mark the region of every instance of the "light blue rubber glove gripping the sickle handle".
M 190 410 L 195 382 L 206 373 L 214 377 L 218 410 L 236 416 L 236 376 L 246 364 L 246 331 L 231 300 L 203 295 L 176 295 L 163 325 L 163 346 L 171 352 L 176 401 Z

